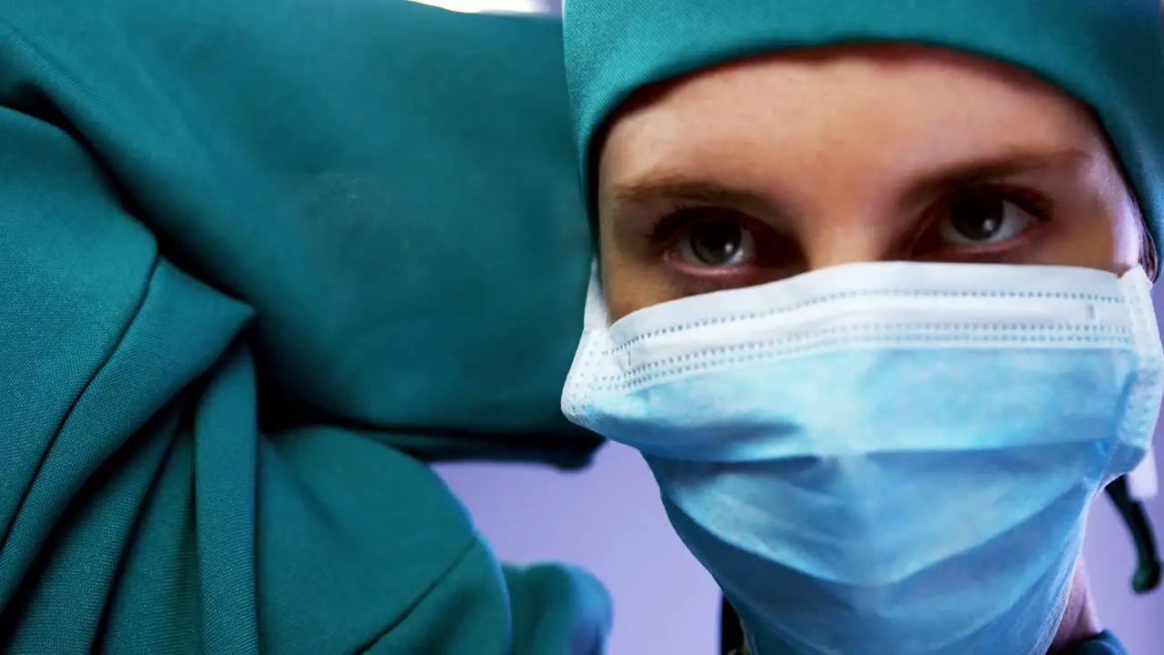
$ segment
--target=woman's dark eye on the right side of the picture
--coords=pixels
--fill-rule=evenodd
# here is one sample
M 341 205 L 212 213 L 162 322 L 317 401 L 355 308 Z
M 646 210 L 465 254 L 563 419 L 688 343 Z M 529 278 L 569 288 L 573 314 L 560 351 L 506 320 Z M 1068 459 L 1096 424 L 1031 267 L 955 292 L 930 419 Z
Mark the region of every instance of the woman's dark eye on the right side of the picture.
M 1039 219 L 1032 202 L 999 190 L 964 191 L 949 199 L 937 223 L 938 238 L 954 246 L 991 246 L 1021 235 Z

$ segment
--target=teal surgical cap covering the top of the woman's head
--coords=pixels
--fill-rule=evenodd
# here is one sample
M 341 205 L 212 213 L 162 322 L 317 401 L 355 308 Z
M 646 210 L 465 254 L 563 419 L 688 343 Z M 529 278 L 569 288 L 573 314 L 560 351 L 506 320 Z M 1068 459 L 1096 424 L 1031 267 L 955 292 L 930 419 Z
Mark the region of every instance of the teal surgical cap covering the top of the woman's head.
M 1094 108 L 1161 254 L 1159 0 L 567 0 L 566 68 L 589 190 L 591 141 L 637 89 L 782 49 L 913 42 L 1017 64 Z

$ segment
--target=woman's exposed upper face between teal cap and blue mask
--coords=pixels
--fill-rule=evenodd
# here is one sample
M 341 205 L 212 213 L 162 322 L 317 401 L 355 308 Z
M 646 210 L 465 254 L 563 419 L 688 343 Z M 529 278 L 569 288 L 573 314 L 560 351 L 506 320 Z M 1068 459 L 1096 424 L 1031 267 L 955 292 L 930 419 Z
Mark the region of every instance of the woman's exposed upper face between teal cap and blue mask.
M 1122 273 L 1141 254 L 1084 105 L 914 45 L 786 52 L 641 93 L 610 127 L 598 213 L 612 319 L 847 262 Z

